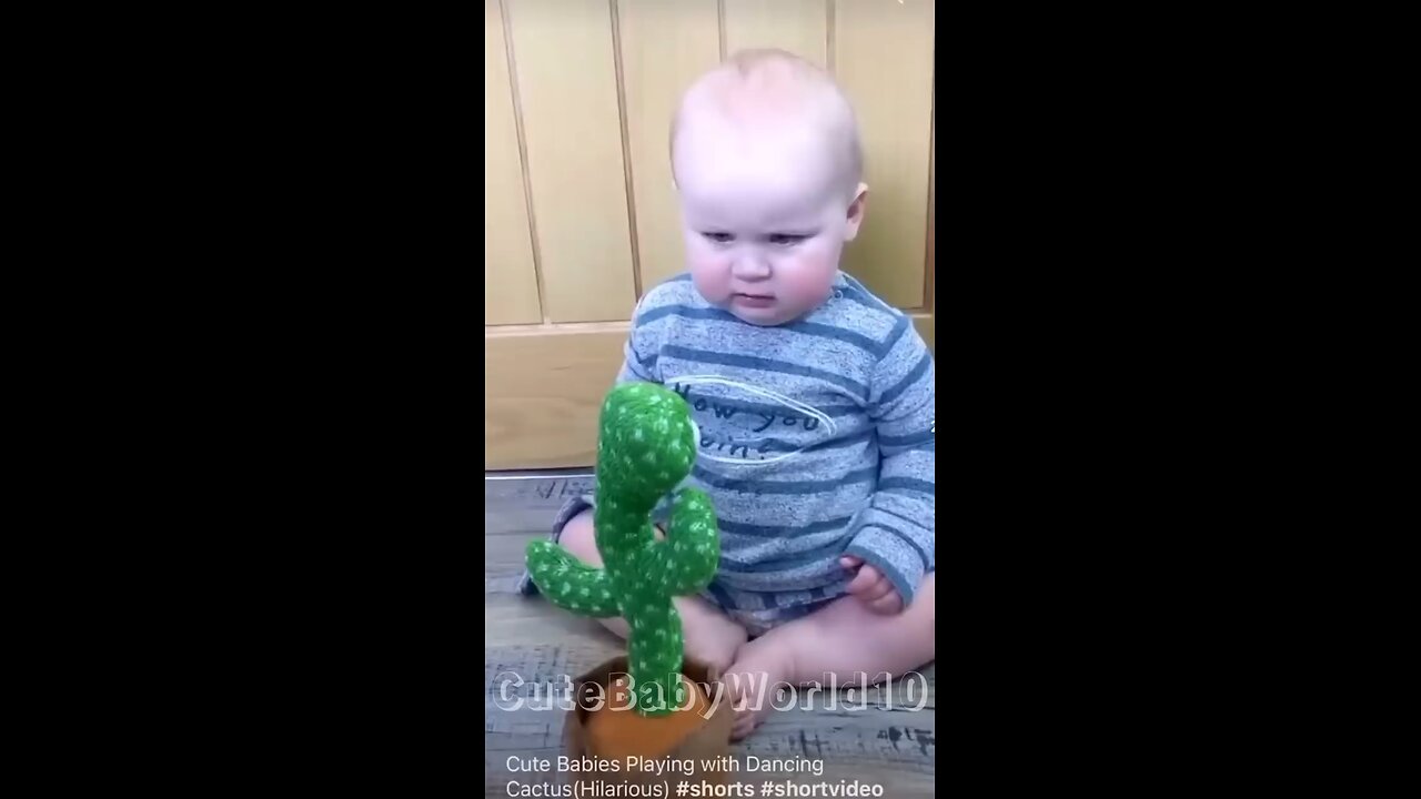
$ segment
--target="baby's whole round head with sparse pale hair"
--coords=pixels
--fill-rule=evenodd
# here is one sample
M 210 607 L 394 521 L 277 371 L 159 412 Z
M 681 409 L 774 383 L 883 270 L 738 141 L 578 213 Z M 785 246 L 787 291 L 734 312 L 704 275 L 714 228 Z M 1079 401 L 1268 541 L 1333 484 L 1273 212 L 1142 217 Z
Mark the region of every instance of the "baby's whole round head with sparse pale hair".
M 682 98 L 671 169 L 706 301 L 783 324 L 828 299 L 867 188 L 853 108 L 824 71 L 774 50 L 720 64 Z

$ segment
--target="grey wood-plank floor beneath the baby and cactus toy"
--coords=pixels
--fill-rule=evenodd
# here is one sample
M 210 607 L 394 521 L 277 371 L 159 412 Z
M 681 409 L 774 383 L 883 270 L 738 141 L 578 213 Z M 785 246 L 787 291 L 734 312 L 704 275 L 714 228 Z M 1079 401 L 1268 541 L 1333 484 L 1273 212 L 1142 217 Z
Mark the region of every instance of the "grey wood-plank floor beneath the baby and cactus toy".
M 517 594 L 527 542 L 547 536 L 557 508 L 588 490 L 590 483 L 585 476 L 485 482 L 485 796 L 517 796 L 522 786 L 570 776 L 557 771 L 567 712 L 543 709 L 551 704 L 549 687 L 566 691 L 570 678 L 624 653 L 624 643 L 595 621 L 564 613 L 543 597 Z M 834 701 L 814 697 L 813 708 L 770 712 L 750 738 L 732 745 L 739 768 L 730 781 L 759 788 L 764 781 L 837 786 L 844 779 L 881 785 L 881 796 L 931 796 L 935 694 L 935 668 L 929 665 L 892 685 L 840 690 Z M 534 758 L 550 761 L 553 768 L 516 771 L 510 758 L 516 768 Z M 818 765 L 823 772 L 767 773 L 764 763 Z M 755 766 L 762 768 L 752 771 Z M 512 792 L 510 782 L 519 783 Z

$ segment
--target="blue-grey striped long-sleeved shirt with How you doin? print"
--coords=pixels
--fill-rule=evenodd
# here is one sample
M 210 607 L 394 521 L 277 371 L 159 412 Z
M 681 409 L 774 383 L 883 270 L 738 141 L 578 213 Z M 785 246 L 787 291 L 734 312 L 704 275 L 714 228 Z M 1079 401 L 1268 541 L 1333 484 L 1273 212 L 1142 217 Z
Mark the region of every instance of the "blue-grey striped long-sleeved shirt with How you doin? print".
M 759 327 L 688 274 L 637 304 L 618 382 L 679 392 L 699 427 L 686 485 L 720 520 L 723 606 L 773 610 L 844 593 L 854 554 L 911 603 L 934 569 L 935 372 L 912 320 L 840 274 L 797 321 Z

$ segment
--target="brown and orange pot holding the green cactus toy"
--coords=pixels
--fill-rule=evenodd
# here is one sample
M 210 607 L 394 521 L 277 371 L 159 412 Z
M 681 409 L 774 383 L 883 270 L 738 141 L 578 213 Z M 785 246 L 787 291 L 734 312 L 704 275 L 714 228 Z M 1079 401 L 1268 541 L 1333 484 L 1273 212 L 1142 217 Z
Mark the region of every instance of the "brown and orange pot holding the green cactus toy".
M 699 692 L 696 709 L 648 718 L 618 701 L 625 690 L 618 691 L 615 680 L 624 674 L 625 655 L 573 680 L 576 704 L 563 725 L 563 748 L 576 769 L 571 781 L 665 783 L 669 789 L 679 783 L 725 783 L 728 768 L 706 768 L 708 762 L 723 763 L 730 754 L 735 711 L 720 675 L 688 658 L 681 674 Z M 601 707 L 595 708 L 598 698 Z M 657 763 L 662 763 L 659 773 Z

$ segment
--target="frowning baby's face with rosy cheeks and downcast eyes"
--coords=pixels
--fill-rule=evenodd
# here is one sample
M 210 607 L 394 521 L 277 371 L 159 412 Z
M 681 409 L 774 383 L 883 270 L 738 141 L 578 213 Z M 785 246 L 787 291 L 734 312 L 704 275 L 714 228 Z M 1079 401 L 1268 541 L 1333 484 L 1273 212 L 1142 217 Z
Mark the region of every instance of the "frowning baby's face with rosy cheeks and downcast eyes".
M 719 125 L 679 142 L 686 260 L 706 301 L 773 326 L 827 300 L 863 215 L 828 148 L 803 131 Z

